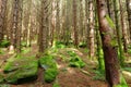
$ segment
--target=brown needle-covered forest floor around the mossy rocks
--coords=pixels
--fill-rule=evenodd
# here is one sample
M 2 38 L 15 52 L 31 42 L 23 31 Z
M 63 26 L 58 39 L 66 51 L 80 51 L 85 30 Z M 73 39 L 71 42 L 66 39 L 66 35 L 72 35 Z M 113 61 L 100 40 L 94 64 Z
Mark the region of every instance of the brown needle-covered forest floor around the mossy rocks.
M 107 83 L 104 79 L 96 79 L 96 62 L 93 62 L 87 59 L 87 54 L 83 49 L 66 48 L 60 49 L 59 53 L 66 54 L 66 50 L 73 50 L 82 60 L 86 63 L 83 69 L 70 67 L 67 61 L 63 61 L 59 55 L 56 59 L 58 63 L 59 74 L 55 82 L 47 84 L 44 82 L 44 70 L 39 67 L 38 77 L 36 80 L 27 82 L 19 85 L 8 85 L 5 87 L 52 87 L 55 83 L 58 83 L 60 87 L 108 87 Z M 8 53 L 8 52 L 7 52 Z M 0 61 L 3 61 L 2 65 L 11 54 L 1 54 Z M 33 45 L 29 52 L 23 54 L 24 57 L 36 55 L 37 57 L 37 46 Z M 1 72 L 1 70 L 0 70 Z M 131 82 L 129 83 L 131 87 Z

